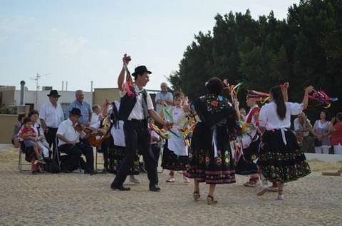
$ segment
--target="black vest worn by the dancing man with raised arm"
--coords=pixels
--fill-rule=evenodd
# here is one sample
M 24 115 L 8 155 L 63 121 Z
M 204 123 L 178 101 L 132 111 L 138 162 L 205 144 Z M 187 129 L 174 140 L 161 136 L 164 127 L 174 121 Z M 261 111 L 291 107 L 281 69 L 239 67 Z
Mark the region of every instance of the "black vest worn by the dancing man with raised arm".
M 145 101 L 145 103 L 142 103 L 142 108 L 144 108 L 144 115 L 145 119 L 147 119 L 147 94 L 144 92 L 142 93 L 143 99 L 142 101 Z M 127 120 L 128 116 L 130 116 L 130 113 L 132 112 L 135 103 L 137 103 L 137 96 L 135 96 L 135 93 L 133 93 L 131 96 L 128 96 L 126 93 L 125 96 L 123 96 L 120 99 L 120 108 L 119 108 L 119 119 L 120 120 Z

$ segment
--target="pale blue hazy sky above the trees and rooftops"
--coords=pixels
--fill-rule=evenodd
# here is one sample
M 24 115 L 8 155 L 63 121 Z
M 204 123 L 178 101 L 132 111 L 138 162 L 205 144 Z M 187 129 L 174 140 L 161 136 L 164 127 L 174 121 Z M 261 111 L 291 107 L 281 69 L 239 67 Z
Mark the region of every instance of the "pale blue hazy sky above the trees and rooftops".
M 172 0 L 172 1 L 16 1 L 0 0 L 0 85 L 19 88 L 21 80 L 35 89 L 36 73 L 51 75 L 39 85 L 61 90 L 116 86 L 123 53 L 135 66 L 152 71 L 147 88 L 166 81 L 185 48 L 199 31 L 214 26 L 214 16 L 229 11 L 254 18 L 274 11 L 286 19 L 287 9 L 299 1 Z

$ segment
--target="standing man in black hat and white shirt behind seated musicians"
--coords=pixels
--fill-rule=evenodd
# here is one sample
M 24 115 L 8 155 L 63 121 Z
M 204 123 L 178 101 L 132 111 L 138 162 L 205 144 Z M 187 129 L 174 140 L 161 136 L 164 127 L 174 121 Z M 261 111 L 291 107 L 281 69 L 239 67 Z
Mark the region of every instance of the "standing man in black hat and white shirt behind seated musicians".
M 56 132 L 58 125 L 64 120 L 64 113 L 61 105 L 57 102 L 61 96 L 58 91 L 52 90 L 47 95 L 49 101 L 41 106 L 39 112 L 39 118 L 41 120 L 41 126 L 43 127 L 44 134 L 48 145 L 53 146 L 53 150 L 56 149 Z

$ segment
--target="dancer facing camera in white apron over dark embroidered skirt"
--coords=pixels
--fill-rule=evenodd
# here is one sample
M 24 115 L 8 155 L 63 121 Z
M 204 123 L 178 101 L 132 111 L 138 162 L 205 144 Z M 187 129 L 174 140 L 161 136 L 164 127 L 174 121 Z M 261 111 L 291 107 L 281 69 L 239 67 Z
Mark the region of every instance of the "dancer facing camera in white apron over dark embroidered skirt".
M 172 128 L 171 137 L 168 139 L 164 145 L 164 150 L 162 152 L 162 168 L 171 170 L 170 178 L 166 180 L 168 183 L 175 182 L 175 171 L 183 171 L 184 183 L 189 183 L 190 180 L 186 176 L 187 163 L 189 161 L 188 157 L 188 145 L 185 142 L 182 134 L 180 133 L 180 128 L 186 125 L 187 113 L 183 110 L 184 94 L 176 92 L 174 94 L 174 104 L 170 108 L 170 115 L 172 115 Z M 163 115 L 166 117 L 166 115 Z

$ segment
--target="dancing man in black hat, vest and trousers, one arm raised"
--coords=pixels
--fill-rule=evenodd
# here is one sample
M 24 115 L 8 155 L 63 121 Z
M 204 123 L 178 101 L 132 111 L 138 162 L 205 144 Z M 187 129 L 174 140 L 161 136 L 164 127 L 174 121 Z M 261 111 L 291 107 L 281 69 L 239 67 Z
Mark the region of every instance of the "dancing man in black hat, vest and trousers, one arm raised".
M 120 90 L 120 109 L 119 118 L 125 123 L 123 130 L 125 133 L 125 158 L 120 165 L 118 174 L 116 175 L 110 188 L 113 190 L 130 190 L 123 186 L 125 179 L 130 171 L 130 168 L 135 159 L 138 149 L 142 152 L 144 158 L 145 168 L 147 170 L 147 177 L 150 180 L 150 190 L 159 191 L 157 164 L 150 148 L 150 131 L 147 128 L 147 118 L 152 117 L 162 125 L 170 125 L 169 122 L 160 118 L 154 109 L 152 99 L 149 93 L 145 91 L 144 86 L 150 80 L 150 71 L 145 66 L 138 66 L 132 74 L 135 78 L 135 83 L 130 84 L 128 80 L 124 88 L 125 73 L 127 69 L 130 56 L 123 57 L 123 68 L 118 77 L 118 88 Z

